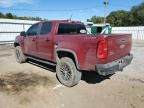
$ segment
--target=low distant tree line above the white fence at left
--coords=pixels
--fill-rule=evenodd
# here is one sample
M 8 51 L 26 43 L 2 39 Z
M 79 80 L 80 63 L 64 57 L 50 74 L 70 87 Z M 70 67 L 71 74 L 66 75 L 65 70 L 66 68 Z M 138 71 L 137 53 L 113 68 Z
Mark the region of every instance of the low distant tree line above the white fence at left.
M 20 20 L 35 20 L 35 21 L 43 21 L 43 20 L 47 20 L 47 19 L 42 19 L 40 17 L 18 17 L 12 13 L 6 13 L 3 14 L 2 12 L 0 12 L 0 18 L 7 18 L 7 19 L 20 19 Z

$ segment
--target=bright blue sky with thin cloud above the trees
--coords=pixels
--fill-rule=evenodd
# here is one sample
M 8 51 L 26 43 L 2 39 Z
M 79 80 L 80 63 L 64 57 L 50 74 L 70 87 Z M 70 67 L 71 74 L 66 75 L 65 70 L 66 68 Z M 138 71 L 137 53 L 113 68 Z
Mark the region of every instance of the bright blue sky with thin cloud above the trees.
M 108 0 L 106 15 L 111 11 L 127 10 L 144 0 Z M 104 0 L 0 0 L 0 12 L 17 16 L 41 17 L 49 20 L 86 21 L 92 16 L 104 16 Z

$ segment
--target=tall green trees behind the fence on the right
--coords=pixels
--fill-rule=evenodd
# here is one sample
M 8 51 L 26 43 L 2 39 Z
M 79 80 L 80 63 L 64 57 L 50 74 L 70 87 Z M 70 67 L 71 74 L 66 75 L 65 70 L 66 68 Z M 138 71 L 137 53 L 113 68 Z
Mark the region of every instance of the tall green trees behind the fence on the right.
M 144 26 L 144 2 L 133 6 L 130 11 L 113 11 L 106 19 L 107 23 L 110 23 L 112 26 Z M 104 17 L 92 16 L 87 21 L 103 23 Z

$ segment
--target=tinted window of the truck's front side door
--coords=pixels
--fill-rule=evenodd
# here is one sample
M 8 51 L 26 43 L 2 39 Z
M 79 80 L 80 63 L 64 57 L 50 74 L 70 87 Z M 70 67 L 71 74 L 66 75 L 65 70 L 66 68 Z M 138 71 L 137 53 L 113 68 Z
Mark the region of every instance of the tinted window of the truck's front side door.
M 37 35 L 37 33 L 38 33 L 38 27 L 39 27 L 39 24 L 32 25 L 32 26 L 28 29 L 27 35 L 28 35 L 28 36 Z

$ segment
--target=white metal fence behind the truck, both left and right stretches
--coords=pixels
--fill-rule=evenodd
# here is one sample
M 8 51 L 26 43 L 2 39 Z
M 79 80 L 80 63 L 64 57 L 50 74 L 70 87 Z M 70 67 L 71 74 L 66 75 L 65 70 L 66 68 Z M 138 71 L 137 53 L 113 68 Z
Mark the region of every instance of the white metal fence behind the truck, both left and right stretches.
M 26 31 L 37 21 L 0 19 L 0 44 L 13 43 L 21 31 Z M 112 33 L 130 33 L 134 40 L 144 40 L 144 26 L 142 27 L 113 27 Z

